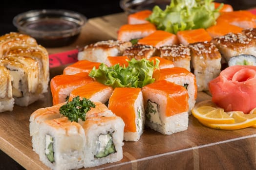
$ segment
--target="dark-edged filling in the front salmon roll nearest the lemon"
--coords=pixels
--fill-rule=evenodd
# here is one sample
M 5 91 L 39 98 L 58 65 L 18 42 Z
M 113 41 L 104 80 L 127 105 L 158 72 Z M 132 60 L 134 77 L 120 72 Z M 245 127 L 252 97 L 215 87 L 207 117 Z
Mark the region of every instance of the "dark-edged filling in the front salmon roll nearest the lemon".
M 158 104 L 148 100 L 146 108 L 146 119 L 156 124 L 162 124 L 158 113 Z

